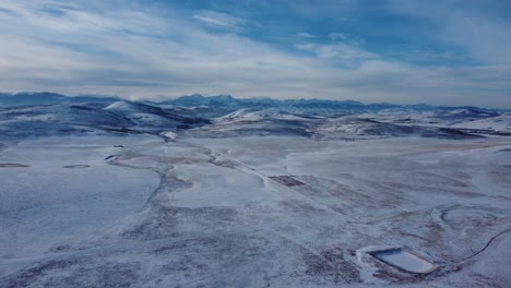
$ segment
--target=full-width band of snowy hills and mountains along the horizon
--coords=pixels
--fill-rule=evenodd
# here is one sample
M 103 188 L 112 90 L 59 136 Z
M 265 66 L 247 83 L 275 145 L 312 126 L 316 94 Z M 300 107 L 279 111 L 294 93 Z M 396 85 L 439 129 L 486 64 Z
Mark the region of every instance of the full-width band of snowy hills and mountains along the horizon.
M 321 99 L 183 96 L 162 103 L 52 93 L 0 94 L 3 137 L 173 132 L 187 136 L 473 137 L 511 134 L 511 112 Z M 174 135 L 173 134 L 173 135 Z

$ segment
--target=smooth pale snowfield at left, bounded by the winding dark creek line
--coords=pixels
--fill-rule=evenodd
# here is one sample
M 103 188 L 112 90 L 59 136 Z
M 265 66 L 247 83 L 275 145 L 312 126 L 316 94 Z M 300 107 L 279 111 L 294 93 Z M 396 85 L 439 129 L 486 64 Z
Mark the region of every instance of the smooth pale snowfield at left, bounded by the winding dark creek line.
M 104 158 L 116 151 L 95 137 L 56 137 L 4 147 L 0 164 L 11 165 L 0 167 L 0 275 L 15 268 L 16 261 L 58 251 L 143 207 L 158 177 L 108 165 Z

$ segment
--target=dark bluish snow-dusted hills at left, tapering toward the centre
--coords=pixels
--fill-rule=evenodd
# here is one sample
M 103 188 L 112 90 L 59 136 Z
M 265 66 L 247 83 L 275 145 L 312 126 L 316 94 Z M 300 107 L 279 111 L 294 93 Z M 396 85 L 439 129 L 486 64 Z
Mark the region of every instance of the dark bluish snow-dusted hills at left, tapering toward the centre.
M 76 103 L 0 108 L 0 137 L 128 133 L 158 134 L 210 121 L 179 116 L 171 110 L 139 103 Z

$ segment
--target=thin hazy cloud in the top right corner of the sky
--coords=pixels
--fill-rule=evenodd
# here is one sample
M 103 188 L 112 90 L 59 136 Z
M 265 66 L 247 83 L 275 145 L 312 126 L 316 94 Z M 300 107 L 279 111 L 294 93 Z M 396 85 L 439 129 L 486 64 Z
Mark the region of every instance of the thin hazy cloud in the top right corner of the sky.
M 428 20 L 439 27 L 431 35 L 465 49 L 482 63 L 511 64 L 511 20 L 501 14 L 511 10 L 509 1 L 392 0 L 388 9 Z

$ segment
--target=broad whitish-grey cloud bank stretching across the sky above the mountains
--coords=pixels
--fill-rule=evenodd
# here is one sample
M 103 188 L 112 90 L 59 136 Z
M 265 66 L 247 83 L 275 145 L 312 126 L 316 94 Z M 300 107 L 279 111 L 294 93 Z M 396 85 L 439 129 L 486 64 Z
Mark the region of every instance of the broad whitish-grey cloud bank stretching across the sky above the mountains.
M 277 20 L 253 26 L 250 23 L 261 19 L 247 19 L 248 13 L 121 2 L 119 7 L 118 1 L 95 0 L 1 1 L 0 89 L 134 98 L 233 94 L 511 108 L 511 69 L 499 61 L 506 51 L 498 48 L 498 57 L 487 56 L 495 44 L 451 36 L 450 41 L 487 60 L 477 65 L 419 67 L 389 59 L 334 33 L 331 38 L 336 39 L 326 44 L 310 37 L 300 39 L 301 44 L 271 43 L 260 36 L 270 24 L 283 35 L 307 29 L 283 27 Z M 425 17 L 404 8 L 389 9 Z M 488 23 L 488 27 L 507 31 L 500 20 Z M 441 39 L 459 29 L 450 25 L 453 28 L 442 29 Z M 255 31 L 253 35 L 250 29 Z M 495 43 L 497 36 L 506 38 L 496 32 L 487 40 Z M 506 40 L 502 45 L 507 47 Z

